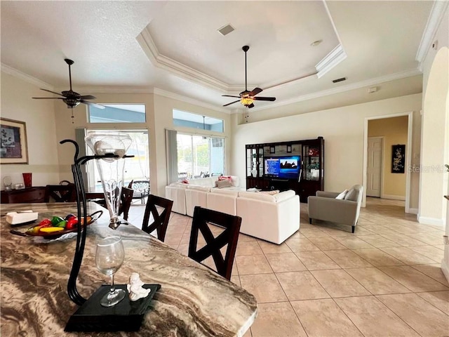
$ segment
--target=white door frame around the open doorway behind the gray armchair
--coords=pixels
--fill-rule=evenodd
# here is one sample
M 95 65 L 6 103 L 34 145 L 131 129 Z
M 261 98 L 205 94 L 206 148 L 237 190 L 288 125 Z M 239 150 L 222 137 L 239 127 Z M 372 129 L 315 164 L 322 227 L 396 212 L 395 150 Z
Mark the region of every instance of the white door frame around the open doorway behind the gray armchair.
M 365 117 L 363 123 L 363 172 L 362 172 L 362 184 L 366 186 L 367 183 L 367 171 L 368 171 L 368 121 L 373 119 L 385 119 L 392 117 L 408 116 L 408 131 L 407 131 L 407 147 L 406 147 L 406 213 L 410 212 L 410 170 L 412 164 L 412 141 L 413 141 L 413 111 L 398 112 L 397 114 L 382 114 L 379 116 Z M 418 191 L 419 193 L 419 191 Z M 366 188 L 363 188 L 362 206 L 366 206 Z

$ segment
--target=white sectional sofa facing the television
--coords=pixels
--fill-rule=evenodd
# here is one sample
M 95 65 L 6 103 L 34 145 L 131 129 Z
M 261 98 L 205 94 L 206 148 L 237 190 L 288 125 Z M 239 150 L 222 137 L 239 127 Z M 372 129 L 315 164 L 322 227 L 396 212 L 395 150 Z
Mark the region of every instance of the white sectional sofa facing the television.
M 166 197 L 173 200 L 172 211 L 193 216 L 201 206 L 242 218 L 240 232 L 274 244 L 281 244 L 300 229 L 300 199 L 293 190 L 277 194 L 248 192 L 239 177 L 231 185 L 216 187 L 217 177 L 188 180 L 166 186 Z

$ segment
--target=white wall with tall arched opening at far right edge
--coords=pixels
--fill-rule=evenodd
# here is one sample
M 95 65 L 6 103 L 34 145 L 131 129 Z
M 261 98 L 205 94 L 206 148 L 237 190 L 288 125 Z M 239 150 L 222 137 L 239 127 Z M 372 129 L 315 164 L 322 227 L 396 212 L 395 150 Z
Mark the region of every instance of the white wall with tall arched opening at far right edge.
M 446 204 L 443 200 L 448 184 L 448 173 L 443 164 L 449 161 L 449 142 L 447 119 L 449 69 L 448 69 L 448 7 L 445 8 L 443 20 L 432 41 L 438 41 L 438 50 L 430 48 L 423 69 L 423 103 L 422 103 L 422 152 L 421 168 L 426 172 L 420 176 L 420 223 L 443 225 L 445 223 Z M 436 60 L 438 55 L 438 60 Z M 441 167 L 441 170 L 432 169 Z

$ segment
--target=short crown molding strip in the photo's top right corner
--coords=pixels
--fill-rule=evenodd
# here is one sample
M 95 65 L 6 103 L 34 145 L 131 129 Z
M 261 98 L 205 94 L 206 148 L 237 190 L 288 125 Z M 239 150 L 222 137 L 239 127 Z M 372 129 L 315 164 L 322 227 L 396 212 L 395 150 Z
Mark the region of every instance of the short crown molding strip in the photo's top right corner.
M 443 20 L 443 14 L 448 8 L 448 1 L 435 1 L 434 5 L 429 14 L 429 18 L 427 19 L 426 27 L 424 28 L 424 32 L 422 33 L 422 38 L 420 42 L 420 46 L 418 47 L 416 53 L 416 60 L 419 62 L 419 69 L 422 70 L 422 62 L 427 56 L 429 49 L 431 47 L 432 41 L 435 37 L 436 31 L 438 30 L 438 26 L 440 25 L 441 20 Z

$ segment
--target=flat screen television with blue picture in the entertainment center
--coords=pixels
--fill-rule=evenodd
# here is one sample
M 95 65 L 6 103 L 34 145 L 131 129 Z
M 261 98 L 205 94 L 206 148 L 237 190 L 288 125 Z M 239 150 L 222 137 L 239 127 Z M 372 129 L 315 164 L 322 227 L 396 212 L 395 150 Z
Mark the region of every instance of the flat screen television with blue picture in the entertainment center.
M 300 156 L 269 157 L 264 159 L 264 176 L 298 180 L 300 172 Z

